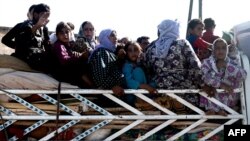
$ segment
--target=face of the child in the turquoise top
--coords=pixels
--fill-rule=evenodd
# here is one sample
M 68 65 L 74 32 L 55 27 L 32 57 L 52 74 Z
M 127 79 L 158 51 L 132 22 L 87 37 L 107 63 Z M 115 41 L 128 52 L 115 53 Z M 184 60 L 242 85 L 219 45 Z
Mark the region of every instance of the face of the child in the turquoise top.
M 128 59 L 132 62 L 136 62 L 141 54 L 139 45 L 129 45 L 127 50 Z

